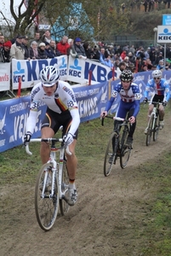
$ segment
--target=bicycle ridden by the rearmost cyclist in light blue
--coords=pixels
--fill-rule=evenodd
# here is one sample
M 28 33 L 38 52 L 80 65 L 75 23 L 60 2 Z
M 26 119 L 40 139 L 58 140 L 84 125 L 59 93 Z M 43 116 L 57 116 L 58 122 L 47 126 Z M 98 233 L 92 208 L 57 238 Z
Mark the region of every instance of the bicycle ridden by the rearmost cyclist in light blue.
M 151 112 L 146 133 L 146 146 L 149 146 L 151 143 L 151 136 L 153 135 L 153 141 L 157 141 L 158 131 L 160 129 L 160 120 L 159 120 L 159 105 L 162 105 L 162 102 L 151 102 L 154 105 L 154 108 Z

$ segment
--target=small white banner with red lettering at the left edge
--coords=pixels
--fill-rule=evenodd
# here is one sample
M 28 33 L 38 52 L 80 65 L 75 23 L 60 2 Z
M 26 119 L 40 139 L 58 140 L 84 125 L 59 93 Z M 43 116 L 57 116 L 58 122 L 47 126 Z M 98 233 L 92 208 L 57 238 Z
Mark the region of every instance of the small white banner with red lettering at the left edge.
M 10 63 L 0 63 L 0 91 L 10 90 Z

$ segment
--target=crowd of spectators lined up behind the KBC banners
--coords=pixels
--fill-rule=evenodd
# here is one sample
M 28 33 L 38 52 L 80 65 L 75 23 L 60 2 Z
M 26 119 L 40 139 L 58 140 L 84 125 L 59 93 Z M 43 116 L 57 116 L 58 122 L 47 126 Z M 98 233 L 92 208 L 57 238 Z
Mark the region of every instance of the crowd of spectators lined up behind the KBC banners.
M 73 58 L 99 61 L 112 70 L 122 72 L 129 68 L 132 72 L 145 72 L 153 69 L 171 69 L 171 47 L 166 49 L 164 61 L 164 48 L 150 45 L 144 48 L 134 45 L 91 44 L 83 42 L 81 38 L 68 38 L 64 36 L 60 42 L 55 42 L 49 31 L 40 36 L 35 33 L 34 38 L 18 34 L 15 38 L 5 41 L 0 32 L 0 62 L 16 60 L 51 59 L 60 55 L 71 55 Z M 165 64 L 165 67 L 164 67 Z

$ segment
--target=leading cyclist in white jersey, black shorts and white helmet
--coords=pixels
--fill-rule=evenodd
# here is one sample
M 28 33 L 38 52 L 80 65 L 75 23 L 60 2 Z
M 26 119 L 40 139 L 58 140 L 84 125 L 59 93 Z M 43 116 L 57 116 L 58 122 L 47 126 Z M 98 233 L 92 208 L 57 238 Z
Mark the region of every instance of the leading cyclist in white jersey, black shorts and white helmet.
M 63 126 L 63 137 L 69 147 L 71 155 L 66 154 L 67 170 L 70 177 L 68 203 L 73 206 L 77 201 L 75 177 L 77 171 L 77 157 L 75 147 L 77 143 L 80 117 L 76 97 L 71 85 L 60 80 L 60 73 L 56 67 L 48 66 L 40 72 L 41 82 L 31 90 L 31 109 L 26 122 L 24 144 L 30 142 L 31 134 L 37 123 L 37 113 L 41 102 L 47 105 L 47 111 L 42 122 L 41 137 L 54 137 L 54 134 Z M 40 154 L 43 164 L 49 159 L 48 143 L 41 143 Z

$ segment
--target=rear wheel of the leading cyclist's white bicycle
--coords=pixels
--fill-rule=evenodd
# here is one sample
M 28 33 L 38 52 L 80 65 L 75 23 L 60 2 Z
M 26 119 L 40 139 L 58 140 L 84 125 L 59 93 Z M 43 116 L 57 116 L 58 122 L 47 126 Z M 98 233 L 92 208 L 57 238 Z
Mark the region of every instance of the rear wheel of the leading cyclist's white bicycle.
M 61 191 L 64 193 L 68 190 L 68 185 L 69 185 L 69 176 L 68 176 L 68 170 L 66 166 L 66 160 L 64 160 L 63 163 L 63 171 L 62 171 L 62 184 L 61 184 Z M 60 199 L 60 213 L 61 215 L 65 215 L 69 211 L 70 206 L 66 202 L 66 200 Z

